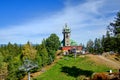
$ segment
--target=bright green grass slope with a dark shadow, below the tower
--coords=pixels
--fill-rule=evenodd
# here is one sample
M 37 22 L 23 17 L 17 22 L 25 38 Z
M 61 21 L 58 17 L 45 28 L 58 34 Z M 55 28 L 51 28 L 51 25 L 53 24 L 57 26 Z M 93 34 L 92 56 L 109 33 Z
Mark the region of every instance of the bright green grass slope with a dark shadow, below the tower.
M 110 68 L 96 64 L 88 57 L 64 57 L 51 69 L 44 72 L 34 80 L 76 80 L 80 77 L 90 77 L 94 72 L 106 72 Z

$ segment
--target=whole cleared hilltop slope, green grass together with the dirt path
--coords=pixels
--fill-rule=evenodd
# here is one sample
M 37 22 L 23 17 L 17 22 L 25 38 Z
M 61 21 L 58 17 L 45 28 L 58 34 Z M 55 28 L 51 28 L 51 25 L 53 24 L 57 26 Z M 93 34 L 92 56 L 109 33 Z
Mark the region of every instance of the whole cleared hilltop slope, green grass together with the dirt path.
M 120 62 L 113 60 L 113 55 L 104 57 L 104 55 L 80 55 L 76 59 L 72 55 L 58 57 L 52 65 L 44 68 L 44 72 L 31 74 L 33 79 L 37 80 L 75 80 L 89 78 L 93 73 L 120 69 Z M 37 77 L 36 77 L 36 76 Z

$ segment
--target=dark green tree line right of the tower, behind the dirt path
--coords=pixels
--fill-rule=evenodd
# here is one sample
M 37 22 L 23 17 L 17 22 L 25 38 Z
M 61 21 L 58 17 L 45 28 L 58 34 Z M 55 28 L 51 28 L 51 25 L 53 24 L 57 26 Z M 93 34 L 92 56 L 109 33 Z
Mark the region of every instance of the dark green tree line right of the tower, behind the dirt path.
M 86 50 L 90 53 L 102 54 L 103 52 L 120 53 L 120 12 L 115 20 L 107 26 L 106 34 L 102 38 L 89 40 Z

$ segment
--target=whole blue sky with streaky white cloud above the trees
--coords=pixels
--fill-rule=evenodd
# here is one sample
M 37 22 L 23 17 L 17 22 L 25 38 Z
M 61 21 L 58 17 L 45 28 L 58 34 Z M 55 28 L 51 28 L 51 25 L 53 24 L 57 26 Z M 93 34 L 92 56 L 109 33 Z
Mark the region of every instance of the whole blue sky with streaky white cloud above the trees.
M 71 39 L 100 38 L 120 10 L 120 0 L 0 0 L 0 44 L 41 43 L 51 33 L 62 40 L 65 23 Z

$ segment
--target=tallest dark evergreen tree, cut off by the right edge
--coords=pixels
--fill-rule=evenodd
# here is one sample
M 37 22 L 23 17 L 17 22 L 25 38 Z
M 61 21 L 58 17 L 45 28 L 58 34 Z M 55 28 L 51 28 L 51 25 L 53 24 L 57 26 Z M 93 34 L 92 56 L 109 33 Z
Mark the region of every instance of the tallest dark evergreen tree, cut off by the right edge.
M 106 42 L 109 42 L 109 49 L 120 53 L 120 11 L 117 13 L 114 22 L 110 23 L 108 26 L 108 30 L 110 33 L 114 34 L 113 37 L 107 37 Z

